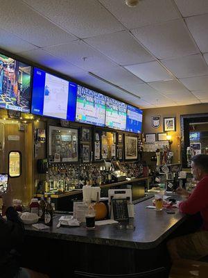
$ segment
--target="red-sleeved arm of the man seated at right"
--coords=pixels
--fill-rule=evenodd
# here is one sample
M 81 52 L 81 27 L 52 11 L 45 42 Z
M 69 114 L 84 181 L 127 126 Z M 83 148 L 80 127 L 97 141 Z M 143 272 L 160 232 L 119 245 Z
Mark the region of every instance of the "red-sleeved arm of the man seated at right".
M 195 214 L 208 204 L 208 186 L 205 181 L 200 181 L 189 198 L 179 204 L 182 213 Z

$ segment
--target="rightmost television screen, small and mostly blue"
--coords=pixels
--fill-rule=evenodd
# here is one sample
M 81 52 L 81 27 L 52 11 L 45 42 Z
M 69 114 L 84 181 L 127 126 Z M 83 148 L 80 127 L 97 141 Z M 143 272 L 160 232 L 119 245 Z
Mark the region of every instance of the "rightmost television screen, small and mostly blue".
M 126 129 L 125 131 L 130 131 L 134 133 L 141 133 L 141 122 L 142 113 L 139 108 L 128 105 L 127 106 L 127 117 L 126 117 Z

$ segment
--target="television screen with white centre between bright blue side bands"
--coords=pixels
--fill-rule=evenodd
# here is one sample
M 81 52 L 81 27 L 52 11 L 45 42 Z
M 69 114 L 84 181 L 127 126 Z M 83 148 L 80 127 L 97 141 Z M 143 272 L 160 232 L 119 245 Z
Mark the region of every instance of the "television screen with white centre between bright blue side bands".
M 31 113 L 75 120 L 77 84 L 34 68 Z

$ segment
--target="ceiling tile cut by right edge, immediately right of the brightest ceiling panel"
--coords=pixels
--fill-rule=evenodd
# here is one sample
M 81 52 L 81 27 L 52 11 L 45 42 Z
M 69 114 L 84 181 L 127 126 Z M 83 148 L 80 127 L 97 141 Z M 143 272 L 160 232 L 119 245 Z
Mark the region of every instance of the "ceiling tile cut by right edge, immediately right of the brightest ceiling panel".
M 161 61 L 178 78 L 208 74 L 208 66 L 200 54 Z

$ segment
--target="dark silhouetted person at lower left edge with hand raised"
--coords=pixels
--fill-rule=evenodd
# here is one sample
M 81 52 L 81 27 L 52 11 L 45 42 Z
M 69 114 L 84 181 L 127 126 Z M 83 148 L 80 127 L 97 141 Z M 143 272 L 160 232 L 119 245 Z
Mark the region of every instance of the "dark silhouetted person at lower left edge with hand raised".
M 15 248 L 23 244 L 24 224 L 18 213 L 12 207 L 12 193 L 8 186 L 6 193 L 1 193 L 3 205 L 6 209 L 6 218 L 0 214 L 0 277 L 1 278 L 46 278 L 47 275 L 19 268 Z

